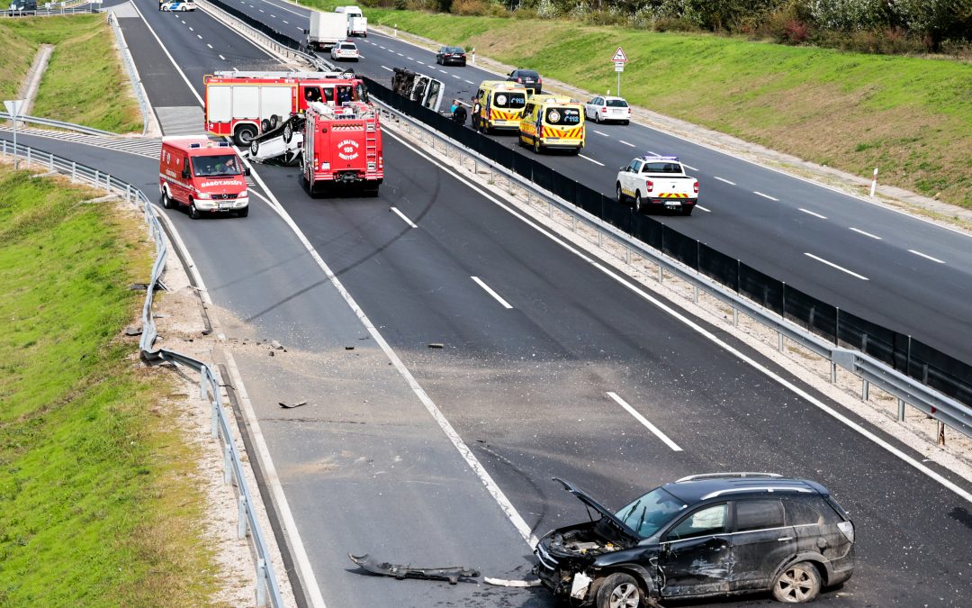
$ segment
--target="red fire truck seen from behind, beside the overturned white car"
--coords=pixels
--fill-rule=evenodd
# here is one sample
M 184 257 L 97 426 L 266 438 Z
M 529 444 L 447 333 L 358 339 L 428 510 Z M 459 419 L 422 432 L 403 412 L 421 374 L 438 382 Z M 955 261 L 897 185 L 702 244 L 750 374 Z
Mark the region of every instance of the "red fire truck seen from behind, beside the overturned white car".
M 333 185 L 355 185 L 378 196 L 385 177 L 381 124 L 374 108 L 361 101 L 332 107 L 311 102 L 304 113 L 300 174 L 311 196 Z

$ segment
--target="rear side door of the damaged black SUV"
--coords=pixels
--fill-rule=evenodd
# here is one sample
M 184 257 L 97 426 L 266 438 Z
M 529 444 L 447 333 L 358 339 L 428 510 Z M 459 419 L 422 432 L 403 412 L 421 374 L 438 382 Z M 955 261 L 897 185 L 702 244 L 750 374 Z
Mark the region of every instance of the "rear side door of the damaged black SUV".
M 740 500 L 733 507 L 729 590 L 768 589 L 777 568 L 797 553 L 796 533 L 785 524 L 779 499 Z

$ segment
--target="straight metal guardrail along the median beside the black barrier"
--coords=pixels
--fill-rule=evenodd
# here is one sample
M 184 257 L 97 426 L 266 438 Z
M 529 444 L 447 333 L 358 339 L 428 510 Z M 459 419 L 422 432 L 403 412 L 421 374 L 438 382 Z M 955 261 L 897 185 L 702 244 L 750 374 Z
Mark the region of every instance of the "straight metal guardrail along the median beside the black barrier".
M 893 370 L 885 363 L 878 361 L 870 355 L 835 346 L 827 340 L 822 340 L 760 304 L 742 298 L 736 292 L 713 281 L 705 274 L 684 267 L 677 261 L 668 258 L 661 251 L 652 248 L 647 243 L 634 238 L 626 232 L 618 230 L 601 218 L 539 188 L 536 184 L 518 175 L 515 171 L 509 170 L 502 164 L 470 150 L 462 144 L 446 137 L 433 127 L 425 125 L 407 114 L 393 109 L 381 100 L 374 98 L 374 96 L 372 96 L 372 102 L 379 104 L 386 115 L 396 118 L 399 122 L 406 125 L 409 130 L 417 128 L 421 132 L 431 136 L 433 138 L 433 147 L 435 147 L 434 142 L 439 141 L 445 146 L 458 150 L 460 154 L 467 155 L 473 161 L 473 170 L 478 171 L 480 165 L 488 167 L 492 173 L 502 175 L 507 180 L 507 183 L 515 182 L 518 188 L 529 193 L 528 199 L 530 197 L 538 197 L 539 199 L 545 200 L 550 205 L 551 213 L 552 209 L 556 207 L 559 211 L 570 215 L 573 218 L 574 230 L 576 230 L 576 223 L 580 222 L 589 229 L 596 231 L 598 233 L 599 245 L 603 246 L 603 238 L 607 236 L 616 245 L 624 248 L 626 259 L 630 258 L 631 252 L 636 252 L 642 258 L 650 260 L 658 267 L 659 281 L 662 280 L 664 272 L 673 274 L 692 285 L 695 290 L 696 301 L 698 301 L 698 293 L 701 290 L 716 300 L 731 306 L 734 323 L 738 320 L 739 312 L 743 312 L 746 316 L 761 325 L 775 331 L 779 338 L 779 350 L 782 351 L 783 338 L 786 338 L 828 360 L 830 362 L 831 382 L 836 381 L 837 367 L 860 377 L 862 400 L 866 401 L 868 399 L 870 385 L 873 384 L 898 400 L 897 417 L 899 420 L 903 421 L 905 419 L 905 405 L 907 404 L 932 416 L 941 424 L 950 426 L 962 434 L 972 437 L 972 408 L 922 384 L 914 378 Z

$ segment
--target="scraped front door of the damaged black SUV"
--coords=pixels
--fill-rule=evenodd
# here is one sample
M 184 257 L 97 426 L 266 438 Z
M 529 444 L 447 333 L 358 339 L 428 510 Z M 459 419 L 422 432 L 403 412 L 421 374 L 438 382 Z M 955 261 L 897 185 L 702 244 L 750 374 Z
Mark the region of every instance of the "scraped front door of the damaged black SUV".
M 662 535 L 658 572 L 662 597 L 709 595 L 729 590 L 732 545 L 729 505 L 697 509 Z

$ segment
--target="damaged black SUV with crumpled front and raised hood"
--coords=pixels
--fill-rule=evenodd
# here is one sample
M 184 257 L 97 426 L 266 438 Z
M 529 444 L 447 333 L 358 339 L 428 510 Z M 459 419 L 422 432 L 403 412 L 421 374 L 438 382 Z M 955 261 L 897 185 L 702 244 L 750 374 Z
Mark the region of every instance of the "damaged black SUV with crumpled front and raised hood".
M 554 481 L 587 505 L 591 521 L 541 538 L 534 573 L 575 606 L 637 608 L 765 590 L 802 603 L 853 573 L 853 523 L 819 483 L 771 473 L 693 475 L 612 513 L 572 483 Z

